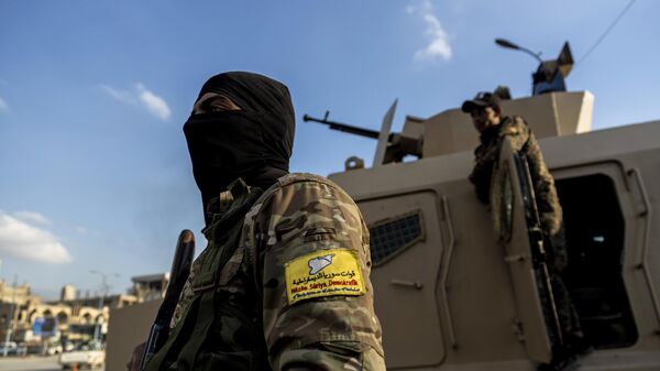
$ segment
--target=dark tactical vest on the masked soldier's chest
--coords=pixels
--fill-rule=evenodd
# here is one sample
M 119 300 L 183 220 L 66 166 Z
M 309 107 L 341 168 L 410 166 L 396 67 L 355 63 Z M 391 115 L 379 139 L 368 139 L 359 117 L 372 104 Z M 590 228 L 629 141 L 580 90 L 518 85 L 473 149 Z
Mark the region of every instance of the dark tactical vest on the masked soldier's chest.
M 233 201 L 204 231 L 209 244 L 198 258 L 194 297 L 145 371 L 271 369 L 261 316 L 256 323 L 250 318 L 255 302 L 245 307 L 244 293 L 237 296 L 219 286 L 220 272 L 239 247 L 245 214 L 263 193 L 241 179 L 230 190 Z

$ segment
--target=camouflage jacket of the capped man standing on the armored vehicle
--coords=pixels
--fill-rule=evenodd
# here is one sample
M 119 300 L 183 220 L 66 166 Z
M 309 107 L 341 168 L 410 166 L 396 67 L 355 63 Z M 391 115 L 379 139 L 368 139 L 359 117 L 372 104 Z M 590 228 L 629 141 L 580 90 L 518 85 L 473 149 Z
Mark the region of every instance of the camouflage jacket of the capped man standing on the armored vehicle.
M 474 150 L 474 167 L 470 174 L 470 182 L 474 184 L 479 199 L 484 204 L 490 203 L 493 171 L 499 161 L 499 151 L 505 137 L 510 138 L 514 148 L 527 157 L 541 227 L 551 238 L 559 239 L 562 234 L 562 209 L 554 188 L 554 179 L 548 171 L 531 129 L 519 116 L 503 117 L 499 130 L 495 134 L 482 135 L 482 143 Z

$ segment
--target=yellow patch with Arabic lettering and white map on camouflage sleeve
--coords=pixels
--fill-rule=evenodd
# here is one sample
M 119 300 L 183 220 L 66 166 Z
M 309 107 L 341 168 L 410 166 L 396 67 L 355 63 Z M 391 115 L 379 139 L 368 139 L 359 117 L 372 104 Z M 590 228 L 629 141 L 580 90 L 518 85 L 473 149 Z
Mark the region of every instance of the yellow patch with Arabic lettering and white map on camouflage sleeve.
M 362 270 L 354 251 L 321 250 L 284 265 L 288 304 L 323 296 L 364 295 Z

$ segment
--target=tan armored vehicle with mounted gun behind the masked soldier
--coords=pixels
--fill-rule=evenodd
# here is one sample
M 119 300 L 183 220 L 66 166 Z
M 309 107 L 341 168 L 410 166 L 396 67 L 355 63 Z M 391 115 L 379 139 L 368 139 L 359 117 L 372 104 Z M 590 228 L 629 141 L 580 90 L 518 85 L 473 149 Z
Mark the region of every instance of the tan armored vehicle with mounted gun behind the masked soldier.
M 564 210 L 563 275 L 595 351 L 580 370 L 660 370 L 660 121 L 591 131 L 594 97 L 556 91 L 503 102 L 539 139 Z M 386 114 L 372 167 L 331 174 L 371 230 L 372 281 L 391 370 L 522 371 L 551 357 L 525 194 L 503 150 L 488 209 L 468 175 L 477 144 L 459 109 Z M 393 162 L 405 154 L 418 160 Z M 157 303 L 114 310 L 108 370 L 144 341 Z

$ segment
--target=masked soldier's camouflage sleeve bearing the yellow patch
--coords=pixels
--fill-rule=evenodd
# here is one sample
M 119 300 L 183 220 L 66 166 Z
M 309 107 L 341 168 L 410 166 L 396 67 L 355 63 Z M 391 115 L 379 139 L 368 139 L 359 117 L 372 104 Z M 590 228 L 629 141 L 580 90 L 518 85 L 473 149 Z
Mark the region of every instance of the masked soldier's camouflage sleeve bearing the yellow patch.
M 274 370 L 385 370 L 369 232 L 329 181 L 280 179 L 255 217 L 255 280 Z

